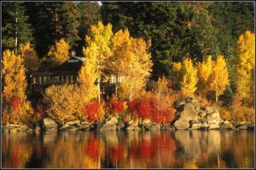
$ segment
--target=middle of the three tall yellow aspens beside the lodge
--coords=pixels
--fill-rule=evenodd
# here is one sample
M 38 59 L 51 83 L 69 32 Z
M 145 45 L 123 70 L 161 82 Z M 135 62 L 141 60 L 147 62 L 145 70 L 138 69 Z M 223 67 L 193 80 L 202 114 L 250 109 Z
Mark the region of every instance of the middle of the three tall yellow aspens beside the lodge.
M 109 68 L 115 75 L 115 97 L 118 94 L 118 77 L 123 76 L 127 65 L 127 57 L 131 50 L 131 40 L 129 31 L 119 30 L 112 38 L 113 55 L 110 58 Z

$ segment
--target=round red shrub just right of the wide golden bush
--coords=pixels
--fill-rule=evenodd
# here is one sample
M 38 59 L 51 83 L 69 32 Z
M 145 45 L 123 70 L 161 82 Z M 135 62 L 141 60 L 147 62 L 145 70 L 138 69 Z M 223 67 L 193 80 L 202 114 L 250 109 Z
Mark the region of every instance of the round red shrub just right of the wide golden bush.
M 92 101 L 85 105 L 85 118 L 90 121 L 97 121 L 102 117 L 103 113 L 104 111 L 102 110 L 102 106 L 97 101 Z

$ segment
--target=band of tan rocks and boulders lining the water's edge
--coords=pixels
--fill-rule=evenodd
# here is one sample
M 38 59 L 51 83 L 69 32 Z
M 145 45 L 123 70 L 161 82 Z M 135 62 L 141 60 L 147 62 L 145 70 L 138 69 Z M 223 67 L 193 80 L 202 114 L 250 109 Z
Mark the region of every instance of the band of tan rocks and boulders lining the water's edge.
M 88 131 L 88 130 L 254 130 L 255 125 L 248 122 L 229 122 L 221 119 L 217 106 L 204 106 L 194 98 L 180 98 L 174 102 L 176 119 L 169 124 L 157 124 L 150 119 L 135 119 L 123 122 L 115 117 L 102 122 L 69 121 L 57 124 L 52 118 L 44 118 L 34 129 L 26 126 L 6 124 L 1 126 L 5 132 L 34 131 Z

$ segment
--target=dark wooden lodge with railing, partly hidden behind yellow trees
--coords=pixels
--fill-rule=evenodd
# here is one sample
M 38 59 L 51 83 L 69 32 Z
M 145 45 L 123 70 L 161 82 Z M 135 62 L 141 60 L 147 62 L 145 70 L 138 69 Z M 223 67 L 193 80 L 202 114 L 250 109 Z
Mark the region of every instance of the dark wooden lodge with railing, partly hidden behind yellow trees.
M 84 57 L 73 56 L 69 58 L 69 60 L 67 60 L 66 62 L 62 63 L 62 65 L 57 66 L 51 71 L 32 72 L 29 74 L 29 85 L 32 88 L 32 91 L 37 91 L 37 93 L 40 91 L 40 93 L 43 93 L 44 89 L 49 87 L 50 85 L 77 83 L 77 80 L 79 78 L 79 69 L 84 62 Z M 146 77 L 147 90 L 150 90 L 154 86 L 158 77 L 159 76 L 155 74 L 148 74 L 148 77 Z M 118 77 L 118 82 L 122 83 L 124 78 L 124 76 Z M 114 93 L 115 76 L 110 75 L 110 79 L 108 80 L 108 82 L 103 82 L 101 83 L 101 85 L 102 94 L 107 95 Z

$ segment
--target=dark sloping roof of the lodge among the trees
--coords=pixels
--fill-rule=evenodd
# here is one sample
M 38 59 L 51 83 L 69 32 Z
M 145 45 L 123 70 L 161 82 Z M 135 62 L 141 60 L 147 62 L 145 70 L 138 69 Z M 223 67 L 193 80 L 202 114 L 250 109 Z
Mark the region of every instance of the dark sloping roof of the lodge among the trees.
M 51 71 L 79 71 L 82 64 L 84 63 L 85 58 L 83 57 L 71 57 L 66 62 L 62 63 Z

